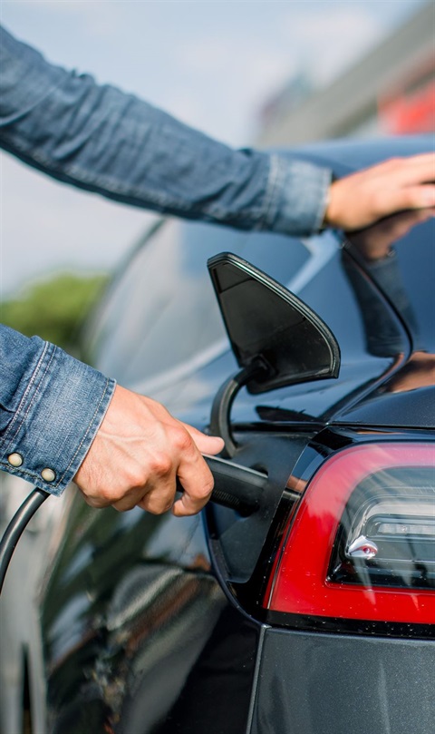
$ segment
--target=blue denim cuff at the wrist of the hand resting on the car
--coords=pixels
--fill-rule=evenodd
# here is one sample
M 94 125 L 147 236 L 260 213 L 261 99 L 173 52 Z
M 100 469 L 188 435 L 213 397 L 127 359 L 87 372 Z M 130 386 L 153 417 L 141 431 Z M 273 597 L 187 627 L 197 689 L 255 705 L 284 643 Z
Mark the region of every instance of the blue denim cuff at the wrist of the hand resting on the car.
M 273 155 L 268 184 L 266 224 L 292 235 L 321 229 L 332 171 L 306 161 Z

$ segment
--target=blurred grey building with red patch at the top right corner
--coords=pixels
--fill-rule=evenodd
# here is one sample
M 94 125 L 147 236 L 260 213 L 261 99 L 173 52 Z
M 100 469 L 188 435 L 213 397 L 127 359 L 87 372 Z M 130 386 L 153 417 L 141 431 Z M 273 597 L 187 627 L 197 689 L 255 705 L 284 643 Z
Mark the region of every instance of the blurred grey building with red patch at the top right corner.
M 328 86 L 310 90 L 301 80 L 289 83 L 261 114 L 256 145 L 434 131 L 435 3 L 430 0 Z

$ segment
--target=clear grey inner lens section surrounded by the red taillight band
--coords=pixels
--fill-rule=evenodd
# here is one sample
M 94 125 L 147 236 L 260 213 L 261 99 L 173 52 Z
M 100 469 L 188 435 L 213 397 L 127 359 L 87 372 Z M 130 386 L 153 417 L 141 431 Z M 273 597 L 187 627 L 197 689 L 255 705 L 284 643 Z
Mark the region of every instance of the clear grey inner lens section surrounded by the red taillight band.
M 429 466 L 375 472 L 341 518 L 328 578 L 365 586 L 435 584 L 435 486 Z

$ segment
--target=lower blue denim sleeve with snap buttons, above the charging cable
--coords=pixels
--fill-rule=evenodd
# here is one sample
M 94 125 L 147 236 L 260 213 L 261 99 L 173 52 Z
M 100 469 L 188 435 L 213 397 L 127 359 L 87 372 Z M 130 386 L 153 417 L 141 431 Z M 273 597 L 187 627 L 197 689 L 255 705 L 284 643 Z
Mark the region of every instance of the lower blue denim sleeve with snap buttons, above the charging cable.
M 102 423 L 114 380 L 5 326 L 0 359 L 0 469 L 61 494 Z

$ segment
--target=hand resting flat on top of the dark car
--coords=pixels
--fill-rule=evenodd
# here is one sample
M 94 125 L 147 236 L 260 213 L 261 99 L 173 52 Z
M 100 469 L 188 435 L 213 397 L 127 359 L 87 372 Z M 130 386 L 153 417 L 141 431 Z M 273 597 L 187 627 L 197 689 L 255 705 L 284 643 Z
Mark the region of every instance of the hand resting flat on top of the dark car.
M 360 230 L 398 211 L 435 206 L 435 153 L 394 158 L 333 181 L 324 224 Z

